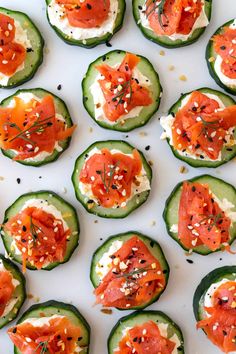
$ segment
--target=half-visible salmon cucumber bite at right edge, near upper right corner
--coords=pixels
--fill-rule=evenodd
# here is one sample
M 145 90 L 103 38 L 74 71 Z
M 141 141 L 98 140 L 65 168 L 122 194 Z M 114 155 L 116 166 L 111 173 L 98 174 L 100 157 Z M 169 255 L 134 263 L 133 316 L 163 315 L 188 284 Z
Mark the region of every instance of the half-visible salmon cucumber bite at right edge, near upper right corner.
M 216 83 L 236 95 L 236 19 L 214 33 L 207 46 L 206 60 Z

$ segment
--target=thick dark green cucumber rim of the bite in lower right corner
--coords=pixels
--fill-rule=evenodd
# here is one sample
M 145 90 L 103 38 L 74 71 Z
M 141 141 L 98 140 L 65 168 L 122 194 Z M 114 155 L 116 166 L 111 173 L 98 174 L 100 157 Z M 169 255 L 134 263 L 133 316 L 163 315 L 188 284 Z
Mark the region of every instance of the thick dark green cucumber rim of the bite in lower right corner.
M 207 274 L 198 285 L 193 297 L 193 311 L 197 321 L 206 317 L 204 310 L 204 297 L 213 283 L 217 283 L 222 279 L 235 280 L 236 266 L 225 266 L 217 268 Z

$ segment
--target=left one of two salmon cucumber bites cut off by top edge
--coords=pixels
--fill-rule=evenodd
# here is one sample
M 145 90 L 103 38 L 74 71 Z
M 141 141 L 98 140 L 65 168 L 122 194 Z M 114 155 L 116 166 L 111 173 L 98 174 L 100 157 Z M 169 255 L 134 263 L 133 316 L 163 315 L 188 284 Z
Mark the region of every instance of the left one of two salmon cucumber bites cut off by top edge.
M 66 43 L 92 48 L 121 29 L 125 0 L 46 0 L 48 21 Z

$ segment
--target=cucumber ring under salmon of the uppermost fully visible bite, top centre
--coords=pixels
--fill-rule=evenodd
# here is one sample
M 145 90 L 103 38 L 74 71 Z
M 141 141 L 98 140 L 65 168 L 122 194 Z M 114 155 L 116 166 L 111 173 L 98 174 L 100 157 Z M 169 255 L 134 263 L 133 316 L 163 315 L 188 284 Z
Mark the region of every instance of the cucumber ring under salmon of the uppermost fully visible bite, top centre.
M 162 95 L 162 87 L 160 84 L 159 76 L 156 73 L 153 65 L 145 57 L 137 55 L 140 59 L 140 62 L 137 65 L 137 69 L 151 82 L 149 89 L 151 97 L 153 99 L 153 103 L 149 106 L 143 107 L 137 117 L 131 117 L 123 121 L 118 120 L 118 122 L 115 124 L 110 124 L 109 122 L 107 122 L 107 120 L 101 121 L 95 118 L 95 106 L 90 87 L 96 81 L 96 78 L 99 75 L 99 72 L 96 67 L 102 64 L 107 64 L 109 66 L 121 64 L 125 54 L 126 52 L 122 50 L 114 50 L 99 57 L 89 65 L 87 73 L 85 74 L 85 77 L 82 81 L 83 103 L 88 114 L 101 127 L 121 132 L 129 132 L 135 128 L 142 127 L 143 125 L 145 125 L 158 110 Z

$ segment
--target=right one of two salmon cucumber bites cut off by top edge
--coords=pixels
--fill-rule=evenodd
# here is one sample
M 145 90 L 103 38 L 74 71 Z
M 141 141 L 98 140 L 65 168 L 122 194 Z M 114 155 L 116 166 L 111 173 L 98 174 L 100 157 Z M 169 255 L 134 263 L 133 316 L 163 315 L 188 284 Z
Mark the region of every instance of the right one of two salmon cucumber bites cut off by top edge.
M 134 19 L 145 37 L 167 48 L 192 44 L 211 18 L 212 0 L 133 0 Z

